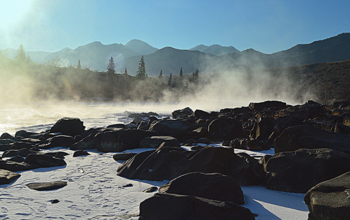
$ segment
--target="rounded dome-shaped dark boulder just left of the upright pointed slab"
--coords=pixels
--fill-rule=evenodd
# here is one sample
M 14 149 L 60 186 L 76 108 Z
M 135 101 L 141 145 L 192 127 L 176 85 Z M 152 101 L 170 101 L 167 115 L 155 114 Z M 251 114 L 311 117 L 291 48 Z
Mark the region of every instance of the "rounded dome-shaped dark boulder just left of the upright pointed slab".
M 242 123 L 235 118 L 218 118 L 209 124 L 209 139 L 233 140 L 239 137 L 245 137 L 245 135 Z

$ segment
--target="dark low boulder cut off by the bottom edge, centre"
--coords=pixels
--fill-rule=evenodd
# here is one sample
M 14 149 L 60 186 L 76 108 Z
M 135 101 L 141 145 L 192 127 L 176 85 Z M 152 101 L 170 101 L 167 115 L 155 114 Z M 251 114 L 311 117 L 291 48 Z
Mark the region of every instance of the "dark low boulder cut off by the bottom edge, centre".
M 147 220 L 254 220 L 253 213 L 234 202 L 190 195 L 156 193 L 140 203 L 140 217 Z

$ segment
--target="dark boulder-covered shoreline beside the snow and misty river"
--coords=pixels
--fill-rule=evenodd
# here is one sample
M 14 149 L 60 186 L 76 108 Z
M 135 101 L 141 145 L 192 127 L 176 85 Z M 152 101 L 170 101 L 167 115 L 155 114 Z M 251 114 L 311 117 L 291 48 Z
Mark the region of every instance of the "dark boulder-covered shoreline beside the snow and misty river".
M 213 112 L 185 108 L 172 112 L 172 118 L 127 113 L 133 122 L 106 128 L 85 130 L 80 119 L 62 118 L 41 133 L 3 133 L 1 157 L 9 159 L 0 160 L 0 184 L 20 178 L 18 171 L 66 165 L 68 153 L 44 149 L 69 148 L 79 157 L 92 149 L 107 153 L 148 148 L 113 156 L 124 161 L 118 176 L 170 181 L 140 203 L 139 219 L 255 219 L 254 210 L 241 206 L 245 201 L 240 187 L 255 185 L 306 193 L 309 220 L 350 217 L 350 100 L 295 106 L 266 101 Z M 274 155 L 260 158 L 235 152 L 272 148 Z

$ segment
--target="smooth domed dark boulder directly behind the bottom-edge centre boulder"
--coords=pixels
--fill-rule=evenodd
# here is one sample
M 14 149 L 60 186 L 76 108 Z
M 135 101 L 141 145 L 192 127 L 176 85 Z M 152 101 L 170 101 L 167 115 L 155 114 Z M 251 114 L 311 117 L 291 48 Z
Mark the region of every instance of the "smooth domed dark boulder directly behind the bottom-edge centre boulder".
M 187 173 L 161 186 L 161 193 L 194 195 L 243 205 L 244 196 L 234 179 L 220 173 Z

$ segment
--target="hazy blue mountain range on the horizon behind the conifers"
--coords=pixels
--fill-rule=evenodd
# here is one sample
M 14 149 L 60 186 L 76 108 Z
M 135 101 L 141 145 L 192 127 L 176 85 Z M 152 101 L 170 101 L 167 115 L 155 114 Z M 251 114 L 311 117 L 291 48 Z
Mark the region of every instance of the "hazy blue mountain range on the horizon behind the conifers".
M 8 57 L 14 58 L 16 50 L 6 49 Z M 145 57 L 146 71 L 149 76 L 178 74 L 183 68 L 184 74 L 191 74 L 196 69 L 204 72 L 225 70 L 263 69 L 283 66 L 296 66 L 311 63 L 335 62 L 350 59 L 350 33 L 339 34 L 328 39 L 314 41 L 273 54 L 264 54 L 252 48 L 243 51 L 233 46 L 224 47 L 218 44 L 205 46 L 203 44 L 188 50 L 172 47 L 158 49 L 141 40 L 131 40 L 125 45 L 113 43 L 102 44 L 95 41 L 76 49 L 63 48 L 57 52 L 28 51 L 31 59 L 45 62 L 56 56 L 61 57 L 64 66 L 77 63 L 82 66 L 90 63 L 91 69 L 105 70 L 112 56 L 117 73 L 127 68 L 130 75 L 135 75 L 140 56 Z

